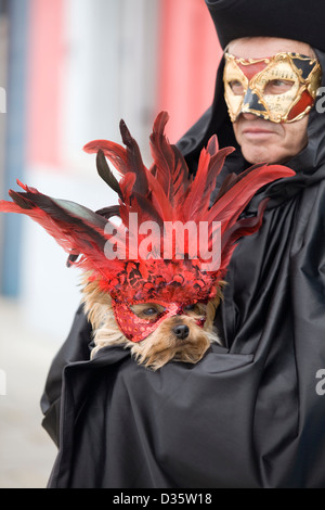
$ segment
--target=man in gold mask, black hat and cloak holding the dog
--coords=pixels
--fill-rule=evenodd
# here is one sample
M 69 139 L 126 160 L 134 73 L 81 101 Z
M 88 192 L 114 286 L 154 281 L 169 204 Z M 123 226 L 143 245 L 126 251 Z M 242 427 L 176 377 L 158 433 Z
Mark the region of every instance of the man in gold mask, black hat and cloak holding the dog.
M 52 487 L 325 487 L 325 117 L 315 106 L 317 81 L 307 84 L 313 101 L 304 95 L 292 114 L 301 62 L 325 71 L 324 13 L 321 2 L 290 0 L 285 12 L 283 3 L 207 0 L 225 56 L 212 107 L 179 143 L 194 171 L 213 132 L 221 146 L 237 148 L 219 186 L 261 161 L 296 170 L 245 211 L 253 216 L 269 196 L 262 228 L 240 240 L 226 276 L 216 318 L 223 347 L 194 367 L 169 364 L 159 373 L 139 370 L 120 349 L 89 362 L 90 327 L 79 310 L 43 395 L 44 426 L 60 442 Z M 280 53 L 295 76 L 276 74 Z

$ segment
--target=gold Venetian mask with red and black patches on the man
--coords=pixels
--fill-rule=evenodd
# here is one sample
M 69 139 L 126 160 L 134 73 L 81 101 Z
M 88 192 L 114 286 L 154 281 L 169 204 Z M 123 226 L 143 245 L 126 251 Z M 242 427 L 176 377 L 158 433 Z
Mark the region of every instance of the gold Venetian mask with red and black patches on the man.
M 313 106 L 322 78 L 315 59 L 299 53 L 247 60 L 224 56 L 224 98 L 233 123 L 240 113 L 292 123 Z

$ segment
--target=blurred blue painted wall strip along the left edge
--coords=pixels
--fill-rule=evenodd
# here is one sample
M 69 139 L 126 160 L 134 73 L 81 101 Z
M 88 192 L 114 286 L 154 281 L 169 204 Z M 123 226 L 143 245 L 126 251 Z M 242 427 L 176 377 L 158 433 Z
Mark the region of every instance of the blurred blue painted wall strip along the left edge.
M 16 178 L 24 181 L 26 131 L 26 72 L 28 0 L 1 2 L 9 17 L 9 52 L 6 80 L 6 137 L 4 190 L 16 189 Z M 3 12 L 3 11 L 2 11 Z M 20 295 L 22 218 L 4 215 L 1 267 L 1 294 Z

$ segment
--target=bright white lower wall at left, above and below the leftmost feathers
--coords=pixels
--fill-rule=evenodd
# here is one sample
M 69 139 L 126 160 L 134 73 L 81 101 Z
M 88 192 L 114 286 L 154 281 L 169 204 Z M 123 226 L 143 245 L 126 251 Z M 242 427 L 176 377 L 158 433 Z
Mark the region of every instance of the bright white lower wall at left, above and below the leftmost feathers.
M 115 193 L 98 176 L 94 157 L 91 176 L 29 168 L 26 182 L 44 194 L 72 200 L 93 211 L 117 203 Z M 50 337 L 64 341 L 80 302 L 77 268 L 67 268 L 67 255 L 35 221 L 24 217 L 22 257 L 22 309 L 24 319 Z

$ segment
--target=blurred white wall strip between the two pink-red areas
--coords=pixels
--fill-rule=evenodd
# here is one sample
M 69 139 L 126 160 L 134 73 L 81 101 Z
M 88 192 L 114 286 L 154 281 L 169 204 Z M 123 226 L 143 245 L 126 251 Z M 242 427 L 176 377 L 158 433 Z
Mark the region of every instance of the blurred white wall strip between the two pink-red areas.
M 157 114 L 159 0 L 66 0 L 64 5 L 64 156 L 80 164 L 88 141 L 120 141 L 123 118 L 147 157 Z

